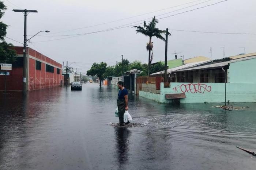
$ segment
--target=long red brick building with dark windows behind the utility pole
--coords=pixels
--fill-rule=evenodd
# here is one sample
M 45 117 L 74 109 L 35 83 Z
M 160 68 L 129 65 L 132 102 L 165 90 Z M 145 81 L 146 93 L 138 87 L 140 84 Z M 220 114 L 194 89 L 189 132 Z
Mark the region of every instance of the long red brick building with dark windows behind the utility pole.
M 23 86 L 23 47 L 14 47 L 17 61 L 12 63 L 10 76 L 7 76 L 6 90 L 22 91 Z M 27 47 L 27 90 L 37 90 L 60 86 L 64 82 L 62 65 L 49 57 Z M 1 70 L 3 71 L 3 70 Z M 0 90 L 4 90 L 5 76 L 0 75 Z

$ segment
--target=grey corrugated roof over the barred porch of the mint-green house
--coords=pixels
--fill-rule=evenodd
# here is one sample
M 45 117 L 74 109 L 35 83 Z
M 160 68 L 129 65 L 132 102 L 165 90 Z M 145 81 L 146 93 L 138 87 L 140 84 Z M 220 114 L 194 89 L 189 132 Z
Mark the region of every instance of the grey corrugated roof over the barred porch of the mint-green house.
M 255 56 L 251 56 L 251 57 L 244 57 L 244 58 L 232 59 L 232 60 L 230 60 L 230 61 L 225 61 L 225 62 L 213 63 L 213 64 L 208 64 L 208 65 L 203 65 L 203 66 L 197 66 L 197 67 L 192 67 L 192 68 L 179 69 L 179 70 L 176 70 L 176 71 L 180 72 L 180 71 L 188 71 L 188 70 L 200 70 L 200 69 L 220 68 L 220 67 L 223 67 L 223 66 L 227 66 L 229 63 L 239 62 L 239 61 L 244 61 L 244 60 L 254 59 L 254 58 L 256 58 L 256 55 L 255 55 Z

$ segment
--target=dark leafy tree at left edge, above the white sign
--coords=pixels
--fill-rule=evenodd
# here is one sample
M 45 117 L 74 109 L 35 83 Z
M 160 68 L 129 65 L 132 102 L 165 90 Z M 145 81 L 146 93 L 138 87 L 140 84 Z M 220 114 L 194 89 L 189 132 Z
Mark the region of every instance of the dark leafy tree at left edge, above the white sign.
M 3 1 L 0 1 L 0 19 L 4 15 L 4 11 L 6 10 L 6 6 Z M 0 63 L 13 63 L 16 61 L 16 51 L 12 48 L 13 45 L 11 43 L 7 43 L 4 40 L 5 35 L 7 34 L 8 26 L 3 22 L 0 22 Z

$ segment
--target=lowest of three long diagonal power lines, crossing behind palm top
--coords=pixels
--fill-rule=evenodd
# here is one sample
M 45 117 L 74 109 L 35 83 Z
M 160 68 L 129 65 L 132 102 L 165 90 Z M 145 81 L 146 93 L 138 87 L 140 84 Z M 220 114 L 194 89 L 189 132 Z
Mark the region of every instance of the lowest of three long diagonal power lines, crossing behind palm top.
M 222 2 L 225 2 L 225 1 L 228 1 L 228 0 L 219 1 L 218 3 L 222 3 Z M 199 8 L 196 8 L 196 9 L 192 9 L 192 10 L 188 10 L 188 11 L 184 11 L 184 12 L 180 12 L 180 13 L 176 13 L 176 14 L 174 14 L 174 15 L 169 15 L 169 16 L 166 16 L 166 17 L 163 17 L 163 18 L 159 18 L 159 19 L 164 19 L 164 18 L 168 18 L 168 17 L 171 17 L 171 16 L 176 16 L 176 15 L 179 15 L 179 14 L 182 14 L 182 13 L 195 11 L 195 10 L 197 10 L 197 9 L 206 8 L 206 7 L 209 7 L 209 6 L 211 6 L 211 5 L 216 5 L 216 4 L 218 4 L 218 3 L 206 5 L 206 6 L 204 6 L 204 7 L 199 7 Z M 158 20 L 159 20 L 159 19 L 158 19 Z M 136 22 L 134 22 L 134 23 L 136 23 Z M 130 23 L 130 24 L 131 24 L 131 23 Z M 38 42 L 48 42 L 48 41 L 54 41 L 54 40 L 61 40 L 61 39 L 67 39 L 67 38 L 73 38 L 73 37 L 76 37 L 76 36 L 94 34 L 94 33 L 97 33 L 97 32 L 106 32 L 106 31 L 116 30 L 116 29 L 120 29 L 120 28 L 131 27 L 131 26 L 135 26 L 135 25 L 138 25 L 138 24 L 142 24 L 142 23 L 137 23 L 137 24 L 133 24 L 133 25 L 129 25 L 129 26 L 125 26 L 125 25 L 127 25 L 127 24 L 125 24 L 125 25 L 123 25 L 124 27 L 114 27 L 114 28 L 109 28 L 109 29 L 107 29 L 107 30 L 89 32 L 89 33 L 84 33 L 84 34 L 77 34 L 77 35 L 75 35 L 75 36 L 70 36 L 70 37 L 65 37 L 65 38 L 52 39 L 52 40 L 44 40 L 44 41 L 37 41 L 37 42 L 35 42 L 35 43 L 38 43 Z

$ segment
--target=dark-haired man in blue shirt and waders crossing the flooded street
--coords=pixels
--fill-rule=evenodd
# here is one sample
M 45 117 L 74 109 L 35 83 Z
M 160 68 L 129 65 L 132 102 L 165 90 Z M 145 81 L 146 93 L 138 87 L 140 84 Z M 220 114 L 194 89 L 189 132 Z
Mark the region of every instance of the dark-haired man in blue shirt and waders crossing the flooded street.
M 119 90 L 117 98 L 117 108 L 119 115 L 120 126 L 124 125 L 124 112 L 128 111 L 128 91 L 124 88 L 124 83 L 122 81 L 117 82 L 117 87 Z

